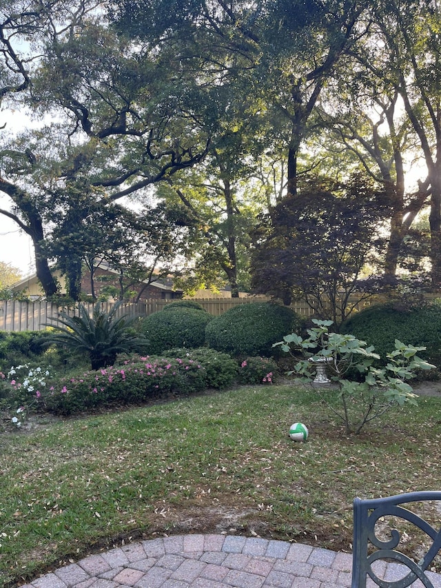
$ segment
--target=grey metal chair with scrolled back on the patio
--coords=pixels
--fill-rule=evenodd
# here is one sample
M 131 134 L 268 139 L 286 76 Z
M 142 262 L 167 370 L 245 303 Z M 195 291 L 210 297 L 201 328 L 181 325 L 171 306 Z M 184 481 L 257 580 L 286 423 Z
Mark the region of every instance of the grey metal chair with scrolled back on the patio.
M 422 500 L 441 500 L 441 491 L 409 492 L 409 494 L 400 494 L 399 496 L 376 498 L 373 500 L 356 498 L 353 501 L 351 588 L 366 588 L 368 576 L 380 588 L 406 588 L 407 586 L 411 586 L 416 580 L 420 580 L 424 587 L 434 588 L 432 583 L 433 574 L 431 572 L 428 573 L 427 569 L 441 548 L 441 528 L 438 530 L 433 529 L 420 516 L 400 506 L 404 503 L 414 503 Z M 433 543 L 420 562 L 416 563 L 400 551 L 396 551 L 396 547 L 398 547 L 400 540 L 402 540 L 402 536 L 397 529 L 391 529 L 391 539 L 389 541 L 380 540 L 376 536 L 376 524 L 378 519 L 384 516 L 394 516 L 407 520 L 431 538 Z M 370 555 L 368 555 L 369 544 L 376 548 L 376 551 L 373 551 Z M 388 562 L 393 561 L 402 564 L 402 577 L 399 580 L 378 578 L 372 569 L 373 562 L 378 560 L 387 560 Z

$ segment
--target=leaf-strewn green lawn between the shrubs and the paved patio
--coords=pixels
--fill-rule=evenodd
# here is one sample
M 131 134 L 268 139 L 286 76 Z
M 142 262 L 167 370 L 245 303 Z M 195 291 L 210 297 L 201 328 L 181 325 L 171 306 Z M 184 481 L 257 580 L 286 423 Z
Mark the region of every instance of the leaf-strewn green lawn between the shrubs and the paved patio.
M 296 420 L 306 443 L 287 435 Z M 0 586 L 163 533 L 236 529 L 349 551 L 354 496 L 441 488 L 440 439 L 441 398 L 347 437 L 314 391 L 287 385 L 3 434 Z

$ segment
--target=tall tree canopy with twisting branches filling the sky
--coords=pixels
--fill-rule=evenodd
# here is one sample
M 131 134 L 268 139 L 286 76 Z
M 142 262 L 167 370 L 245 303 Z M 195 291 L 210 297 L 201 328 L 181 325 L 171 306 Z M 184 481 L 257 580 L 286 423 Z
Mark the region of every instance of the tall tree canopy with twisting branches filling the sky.
M 1 104 L 33 121 L 0 131 L 0 214 L 30 235 L 45 294 L 58 267 L 79 298 L 84 267 L 103 259 L 127 283 L 182 270 L 189 288 L 228 283 L 238 295 L 252 259 L 258 290 L 311 300 L 293 276 L 313 259 L 340 263 L 335 287 L 369 264 L 394 285 L 420 271 L 409 243 L 424 244 L 440 287 L 438 5 L 178 4 L 2 5 Z M 293 247 L 294 263 L 279 263 Z

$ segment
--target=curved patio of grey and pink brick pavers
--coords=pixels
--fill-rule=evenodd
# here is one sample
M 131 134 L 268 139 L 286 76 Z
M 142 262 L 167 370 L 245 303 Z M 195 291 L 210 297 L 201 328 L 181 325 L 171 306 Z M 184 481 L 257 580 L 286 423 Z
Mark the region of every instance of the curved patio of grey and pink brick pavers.
M 351 554 L 302 543 L 194 534 L 123 545 L 22 588 L 349 588 L 351 567 Z M 393 563 L 378 561 L 375 568 L 383 578 L 405 575 Z M 441 588 L 441 575 L 430 576 Z

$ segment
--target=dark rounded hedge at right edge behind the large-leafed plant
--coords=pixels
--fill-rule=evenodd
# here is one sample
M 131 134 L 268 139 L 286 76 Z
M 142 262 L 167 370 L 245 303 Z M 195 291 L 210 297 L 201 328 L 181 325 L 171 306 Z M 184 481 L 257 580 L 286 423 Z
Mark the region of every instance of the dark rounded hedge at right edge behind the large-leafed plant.
M 395 340 L 407 345 L 427 347 L 418 355 L 437 367 L 441 365 L 441 305 L 398 310 L 391 305 L 376 305 L 354 314 L 340 328 L 367 341 L 386 363 L 386 354 L 395 349 Z

